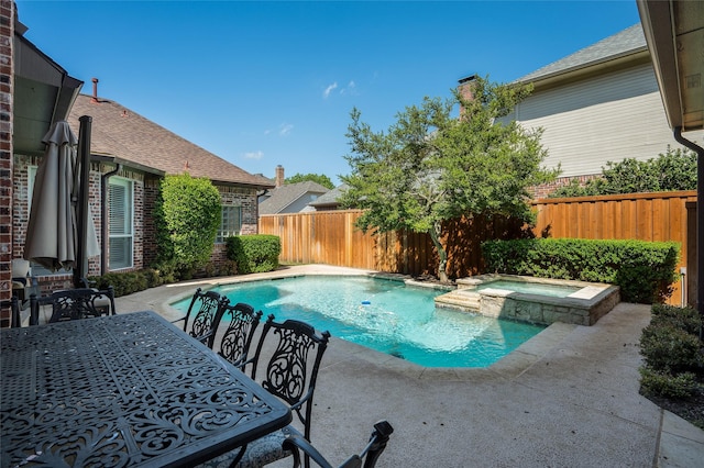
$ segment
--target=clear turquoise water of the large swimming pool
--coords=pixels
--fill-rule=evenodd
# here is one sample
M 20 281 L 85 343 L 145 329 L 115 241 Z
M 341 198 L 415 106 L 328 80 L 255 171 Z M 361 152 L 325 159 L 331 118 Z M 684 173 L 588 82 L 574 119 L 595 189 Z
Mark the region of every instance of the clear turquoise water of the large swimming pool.
M 371 277 L 305 276 L 215 290 L 264 319 L 301 320 L 425 367 L 487 367 L 544 328 L 436 308 L 435 297 L 446 291 Z M 173 305 L 185 311 L 189 301 Z

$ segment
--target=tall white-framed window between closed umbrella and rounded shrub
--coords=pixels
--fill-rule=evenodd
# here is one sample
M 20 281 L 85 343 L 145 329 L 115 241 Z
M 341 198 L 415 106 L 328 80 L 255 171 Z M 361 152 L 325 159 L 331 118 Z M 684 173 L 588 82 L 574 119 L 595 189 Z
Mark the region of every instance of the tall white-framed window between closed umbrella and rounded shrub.
M 133 182 L 112 177 L 110 179 L 110 269 L 132 267 L 134 236 Z

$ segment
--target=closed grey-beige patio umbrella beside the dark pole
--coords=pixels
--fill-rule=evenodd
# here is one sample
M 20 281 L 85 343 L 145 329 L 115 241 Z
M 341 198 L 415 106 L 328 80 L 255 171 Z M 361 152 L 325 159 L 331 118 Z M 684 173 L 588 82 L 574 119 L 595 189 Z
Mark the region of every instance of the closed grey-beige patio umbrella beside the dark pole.
M 32 210 L 24 245 L 24 258 L 52 271 L 74 268 L 79 260 L 77 204 L 80 177 L 77 174 L 76 136 L 67 122 L 56 122 L 44 136 L 44 158 L 36 170 Z M 85 168 L 88 170 L 88 168 Z M 89 215 L 87 256 L 100 253 L 92 216 Z

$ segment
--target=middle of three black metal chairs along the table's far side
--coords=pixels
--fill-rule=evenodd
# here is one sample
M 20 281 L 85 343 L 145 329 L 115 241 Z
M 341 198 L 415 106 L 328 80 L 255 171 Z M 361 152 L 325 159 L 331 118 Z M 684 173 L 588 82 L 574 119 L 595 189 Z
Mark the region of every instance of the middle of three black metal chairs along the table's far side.
M 213 332 L 208 339 L 208 347 L 217 350 L 233 366 L 242 368 L 261 319 L 262 311 L 254 312 L 252 305 L 242 302 L 232 305 L 228 298 L 222 298 L 212 323 Z M 224 328 L 222 334 L 219 333 L 221 326 Z M 218 349 L 215 348 L 216 336 L 220 338 Z

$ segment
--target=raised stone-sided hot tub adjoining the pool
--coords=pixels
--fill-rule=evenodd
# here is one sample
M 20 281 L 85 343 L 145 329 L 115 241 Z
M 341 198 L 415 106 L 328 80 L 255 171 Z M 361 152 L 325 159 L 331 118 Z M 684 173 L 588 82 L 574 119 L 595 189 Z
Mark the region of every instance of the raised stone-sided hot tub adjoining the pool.
M 593 325 L 620 302 L 617 286 L 516 275 L 459 279 L 458 289 L 436 298 L 438 307 L 521 322 Z

